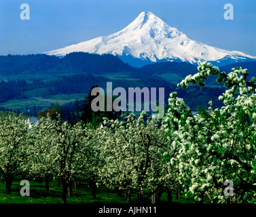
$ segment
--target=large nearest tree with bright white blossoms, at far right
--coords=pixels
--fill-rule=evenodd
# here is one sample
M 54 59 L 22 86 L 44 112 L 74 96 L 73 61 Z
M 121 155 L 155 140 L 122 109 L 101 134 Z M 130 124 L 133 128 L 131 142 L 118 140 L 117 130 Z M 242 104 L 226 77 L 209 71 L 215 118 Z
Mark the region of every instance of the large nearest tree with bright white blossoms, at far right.
M 224 106 L 202 109 L 191 113 L 177 93 L 170 94 L 168 113 L 163 125 L 171 146 L 179 152 L 170 165 L 179 171 L 184 191 L 202 201 L 206 194 L 212 202 L 254 202 L 256 196 L 256 93 L 255 78 L 246 81 L 246 69 L 232 68 L 226 74 L 208 62 L 198 62 L 196 75 L 189 75 L 178 86 L 204 86 L 209 75 L 217 76 L 218 83 L 227 87 L 219 96 Z M 226 197 L 225 180 L 231 180 L 234 194 Z M 232 186 L 231 186 L 232 187 Z

